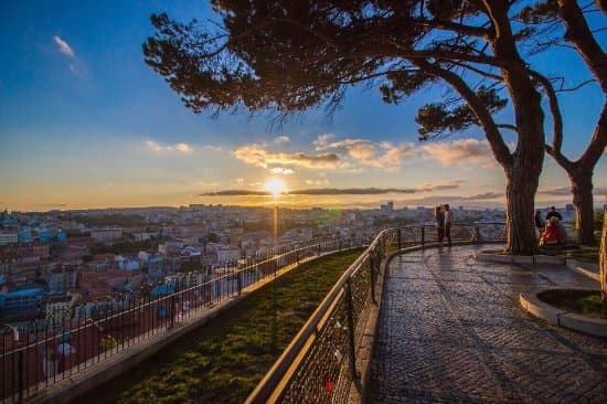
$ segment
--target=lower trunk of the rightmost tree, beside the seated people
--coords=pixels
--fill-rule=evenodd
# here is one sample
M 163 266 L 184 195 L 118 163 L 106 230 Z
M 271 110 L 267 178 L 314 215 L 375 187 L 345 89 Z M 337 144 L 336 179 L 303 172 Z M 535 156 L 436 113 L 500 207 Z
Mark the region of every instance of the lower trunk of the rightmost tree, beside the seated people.
M 568 173 L 572 182 L 575 223 L 579 244 L 594 245 L 593 170 L 574 170 Z

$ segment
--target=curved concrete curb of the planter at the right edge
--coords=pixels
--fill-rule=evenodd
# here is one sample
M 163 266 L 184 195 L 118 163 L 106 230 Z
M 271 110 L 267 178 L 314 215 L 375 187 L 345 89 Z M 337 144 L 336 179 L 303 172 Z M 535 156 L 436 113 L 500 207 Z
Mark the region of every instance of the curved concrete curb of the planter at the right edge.
M 568 289 L 588 291 L 595 290 L 588 288 Z M 519 295 L 521 306 L 531 315 L 550 323 L 590 336 L 607 338 L 607 320 L 567 312 L 540 300 L 537 295 L 550 290 L 562 290 L 562 288 L 543 288 L 535 291 L 521 293 Z

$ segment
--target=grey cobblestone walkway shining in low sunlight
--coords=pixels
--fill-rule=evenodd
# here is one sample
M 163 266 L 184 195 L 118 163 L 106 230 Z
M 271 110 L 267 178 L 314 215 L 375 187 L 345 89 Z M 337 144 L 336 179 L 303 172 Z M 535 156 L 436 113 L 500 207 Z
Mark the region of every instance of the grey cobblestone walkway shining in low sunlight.
M 537 320 L 519 293 L 598 283 L 564 266 L 481 263 L 475 249 L 396 257 L 384 290 L 373 403 L 607 403 L 607 340 Z

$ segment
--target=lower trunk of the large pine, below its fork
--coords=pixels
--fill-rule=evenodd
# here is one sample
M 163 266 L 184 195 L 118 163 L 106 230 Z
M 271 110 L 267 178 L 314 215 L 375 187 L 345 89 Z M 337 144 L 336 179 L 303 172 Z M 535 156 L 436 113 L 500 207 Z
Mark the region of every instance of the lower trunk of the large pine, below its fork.
M 511 254 L 533 254 L 537 249 L 533 215 L 541 167 L 534 171 L 519 169 L 507 174 L 507 251 Z

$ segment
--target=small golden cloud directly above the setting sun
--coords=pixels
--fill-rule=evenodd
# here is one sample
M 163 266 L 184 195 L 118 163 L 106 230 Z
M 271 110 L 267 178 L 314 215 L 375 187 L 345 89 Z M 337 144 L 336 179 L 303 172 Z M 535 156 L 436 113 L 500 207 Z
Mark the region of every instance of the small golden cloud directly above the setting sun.
M 263 146 L 253 143 L 245 145 L 233 152 L 234 157 L 247 164 L 268 168 L 269 164 L 299 166 L 311 169 L 334 169 L 340 163 L 337 153 L 310 155 L 305 152 L 274 153 L 267 151 Z

